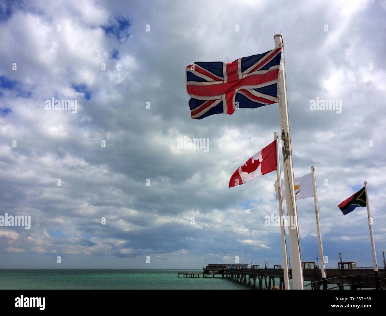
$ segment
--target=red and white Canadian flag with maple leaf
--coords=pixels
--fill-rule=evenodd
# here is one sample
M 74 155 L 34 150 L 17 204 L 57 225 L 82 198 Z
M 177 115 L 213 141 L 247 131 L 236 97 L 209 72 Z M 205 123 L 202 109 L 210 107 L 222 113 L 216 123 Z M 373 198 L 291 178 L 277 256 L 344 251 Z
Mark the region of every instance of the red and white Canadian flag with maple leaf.
M 276 139 L 254 154 L 237 169 L 229 180 L 229 188 L 249 182 L 254 178 L 276 170 Z

